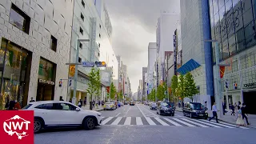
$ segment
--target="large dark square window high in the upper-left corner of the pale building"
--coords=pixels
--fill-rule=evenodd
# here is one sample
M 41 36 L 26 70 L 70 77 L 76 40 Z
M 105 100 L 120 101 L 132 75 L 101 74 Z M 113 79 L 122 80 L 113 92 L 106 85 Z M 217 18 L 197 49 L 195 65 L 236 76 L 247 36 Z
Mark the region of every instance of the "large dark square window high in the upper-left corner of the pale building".
M 14 4 L 11 5 L 9 22 L 26 34 L 30 33 L 30 17 Z

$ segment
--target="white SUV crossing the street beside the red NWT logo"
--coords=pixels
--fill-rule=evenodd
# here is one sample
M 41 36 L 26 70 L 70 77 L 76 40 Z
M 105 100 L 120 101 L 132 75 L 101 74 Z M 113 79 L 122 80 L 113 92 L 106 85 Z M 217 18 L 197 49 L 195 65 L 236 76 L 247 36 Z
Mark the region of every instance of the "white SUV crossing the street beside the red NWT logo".
M 30 102 L 22 110 L 34 110 L 34 133 L 55 126 L 82 126 L 92 130 L 102 123 L 102 114 L 94 110 L 82 110 L 70 102 Z

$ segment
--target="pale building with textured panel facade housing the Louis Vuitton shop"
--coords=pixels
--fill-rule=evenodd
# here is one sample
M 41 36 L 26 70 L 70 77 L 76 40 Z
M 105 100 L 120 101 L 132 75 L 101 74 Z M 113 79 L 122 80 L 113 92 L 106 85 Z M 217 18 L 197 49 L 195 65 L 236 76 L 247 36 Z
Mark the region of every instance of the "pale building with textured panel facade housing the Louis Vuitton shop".
M 0 99 L 66 100 L 72 1 L 0 2 Z M 6 101 L 0 102 L 0 110 Z

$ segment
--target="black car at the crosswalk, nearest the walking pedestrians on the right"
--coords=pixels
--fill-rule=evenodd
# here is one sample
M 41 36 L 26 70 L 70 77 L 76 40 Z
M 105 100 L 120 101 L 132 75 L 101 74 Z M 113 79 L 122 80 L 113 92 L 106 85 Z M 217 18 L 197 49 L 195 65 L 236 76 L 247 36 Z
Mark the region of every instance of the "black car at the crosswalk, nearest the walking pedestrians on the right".
M 199 102 L 186 102 L 183 106 L 183 115 L 190 116 L 190 118 L 208 118 L 207 110 Z

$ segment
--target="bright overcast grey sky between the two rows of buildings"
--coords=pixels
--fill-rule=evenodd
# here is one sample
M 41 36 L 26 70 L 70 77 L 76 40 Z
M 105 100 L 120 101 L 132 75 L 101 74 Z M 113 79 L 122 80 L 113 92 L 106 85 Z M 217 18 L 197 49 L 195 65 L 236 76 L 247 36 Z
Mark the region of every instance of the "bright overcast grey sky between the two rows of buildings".
M 156 22 L 162 11 L 179 13 L 179 0 L 105 0 L 113 26 L 113 49 L 127 65 L 131 90 L 138 90 L 147 47 L 156 42 Z

